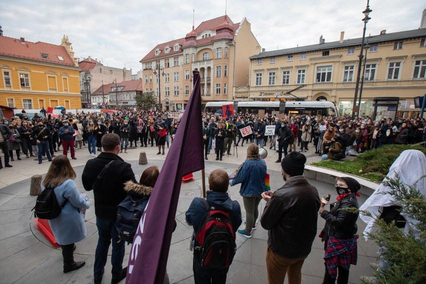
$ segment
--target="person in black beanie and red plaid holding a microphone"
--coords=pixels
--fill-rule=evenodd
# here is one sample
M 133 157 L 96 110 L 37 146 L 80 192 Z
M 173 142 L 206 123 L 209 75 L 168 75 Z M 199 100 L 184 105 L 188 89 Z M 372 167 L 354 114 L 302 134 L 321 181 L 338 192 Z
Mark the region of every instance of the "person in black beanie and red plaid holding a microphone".
M 361 185 L 352 177 L 338 177 L 336 181 L 337 200 L 330 204 L 330 210 L 320 207 L 318 213 L 325 220 L 319 237 L 324 241 L 325 273 L 323 284 L 347 284 L 350 264 L 357 261 L 356 234 L 358 212 L 341 208 L 358 209 L 357 191 Z

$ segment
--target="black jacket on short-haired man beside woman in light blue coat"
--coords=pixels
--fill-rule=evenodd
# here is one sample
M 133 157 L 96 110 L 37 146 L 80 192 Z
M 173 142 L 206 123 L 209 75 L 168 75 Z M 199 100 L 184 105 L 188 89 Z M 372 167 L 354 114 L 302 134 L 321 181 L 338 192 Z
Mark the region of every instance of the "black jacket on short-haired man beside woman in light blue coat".
M 111 160 L 114 161 L 95 183 L 97 175 Z M 96 158 L 86 162 L 81 182 L 85 190 L 93 189 L 94 213 L 97 217 L 115 219 L 116 207 L 127 195 L 123 189 L 124 183 L 129 180 L 136 182 L 133 170 L 129 163 L 116 154 L 101 152 Z

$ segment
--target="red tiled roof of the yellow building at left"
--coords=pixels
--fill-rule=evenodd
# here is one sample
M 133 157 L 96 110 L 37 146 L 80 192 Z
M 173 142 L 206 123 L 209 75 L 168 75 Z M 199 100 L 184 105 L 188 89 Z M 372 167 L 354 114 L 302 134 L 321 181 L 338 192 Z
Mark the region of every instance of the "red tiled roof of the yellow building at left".
M 46 53 L 47 58 L 43 58 L 41 53 Z M 8 36 L 0 36 L 0 55 L 29 59 L 33 61 L 75 66 L 71 56 L 69 56 L 65 47 L 41 41 L 31 42 L 24 41 L 21 43 L 19 38 L 12 38 Z M 62 56 L 64 61 L 57 58 Z

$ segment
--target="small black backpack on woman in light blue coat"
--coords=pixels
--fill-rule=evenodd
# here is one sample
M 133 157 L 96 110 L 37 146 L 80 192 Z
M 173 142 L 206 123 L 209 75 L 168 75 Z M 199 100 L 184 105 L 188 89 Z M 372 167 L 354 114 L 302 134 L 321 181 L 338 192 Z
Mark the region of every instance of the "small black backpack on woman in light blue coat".
M 37 196 L 37 201 L 31 211 L 34 210 L 34 216 L 37 218 L 51 220 L 59 216 L 66 201 L 68 199 L 65 198 L 65 201 L 59 206 L 56 195 L 54 194 L 54 188 L 46 187 Z

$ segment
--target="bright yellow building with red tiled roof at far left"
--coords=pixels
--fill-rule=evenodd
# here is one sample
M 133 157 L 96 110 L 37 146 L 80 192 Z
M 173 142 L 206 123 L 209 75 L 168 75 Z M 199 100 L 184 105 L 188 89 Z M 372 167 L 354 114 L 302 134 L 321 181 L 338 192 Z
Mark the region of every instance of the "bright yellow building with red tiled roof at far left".
M 0 69 L 0 105 L 27 112 L 81 107 L 80 69 L 65 35 L 61 45 L 0 36 Z

